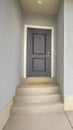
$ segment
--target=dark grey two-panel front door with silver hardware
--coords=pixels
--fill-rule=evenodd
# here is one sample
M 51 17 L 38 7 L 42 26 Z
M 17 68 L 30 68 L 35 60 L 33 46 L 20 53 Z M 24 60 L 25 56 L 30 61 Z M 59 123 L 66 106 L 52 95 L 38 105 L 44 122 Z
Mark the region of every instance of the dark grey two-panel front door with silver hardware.
M 51 77 L 51 30 L 27 31 L 27 76 Z

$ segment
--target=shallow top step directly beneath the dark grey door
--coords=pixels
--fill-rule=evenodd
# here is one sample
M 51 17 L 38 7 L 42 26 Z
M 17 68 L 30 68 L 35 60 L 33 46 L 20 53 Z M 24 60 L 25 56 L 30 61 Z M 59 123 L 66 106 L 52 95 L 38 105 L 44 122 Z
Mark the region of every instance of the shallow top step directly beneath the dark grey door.
M 29 78 L 22 78 L 21 83 L 27 84 L 27 83 L 33 83 L 33 82 L 48 82 L 48 83 L 54 83 L 54 78 L 50 77 L 29 77 Z

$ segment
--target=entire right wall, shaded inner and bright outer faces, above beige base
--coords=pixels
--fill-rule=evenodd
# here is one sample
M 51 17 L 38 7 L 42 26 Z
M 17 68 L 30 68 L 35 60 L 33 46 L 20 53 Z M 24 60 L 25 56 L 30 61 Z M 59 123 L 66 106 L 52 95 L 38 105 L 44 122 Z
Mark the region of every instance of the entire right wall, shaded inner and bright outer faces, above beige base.
M 62 0 L 57 17 L 57 81 L 73 96 L 73 0 Z

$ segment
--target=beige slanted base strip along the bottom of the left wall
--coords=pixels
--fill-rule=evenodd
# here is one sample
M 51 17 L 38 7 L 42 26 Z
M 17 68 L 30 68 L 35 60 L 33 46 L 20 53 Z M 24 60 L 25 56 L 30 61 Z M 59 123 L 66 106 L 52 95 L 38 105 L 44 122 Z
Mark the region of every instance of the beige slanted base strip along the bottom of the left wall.
M 7 122 L 10 116 L 10 108 L 13 104 L 13 99 L 8 103 L 8 105 L 0 111 L 0 130 L 4 127 L 5 123 Z

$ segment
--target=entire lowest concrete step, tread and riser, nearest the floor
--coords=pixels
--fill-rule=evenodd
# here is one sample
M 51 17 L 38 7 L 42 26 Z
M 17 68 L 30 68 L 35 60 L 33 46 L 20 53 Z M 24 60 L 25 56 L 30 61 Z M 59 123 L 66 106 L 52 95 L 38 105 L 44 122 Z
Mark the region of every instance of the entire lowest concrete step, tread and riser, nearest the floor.
M 11 114 L 32 114 L 64 111 L 62 103 L 14 104 Z

